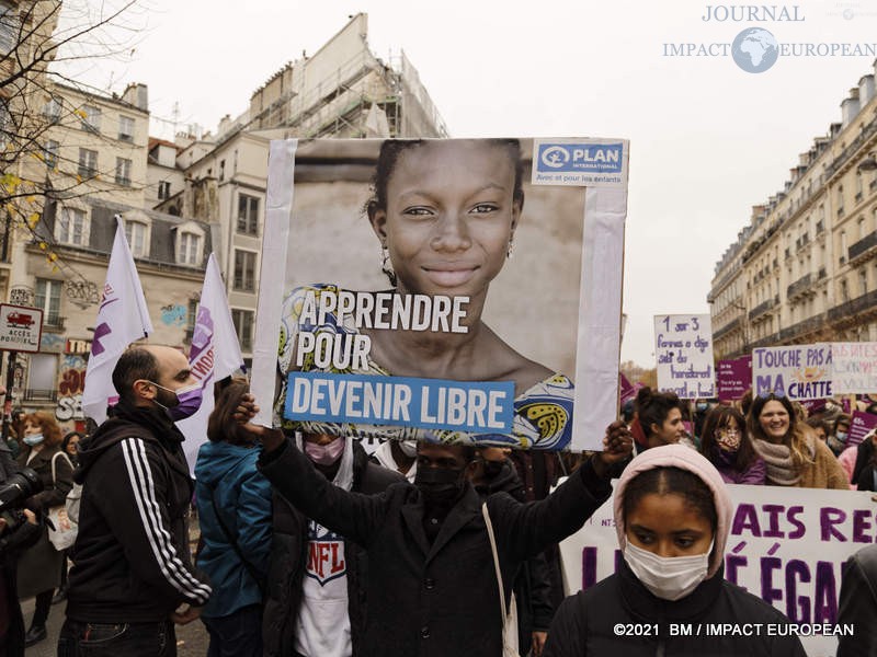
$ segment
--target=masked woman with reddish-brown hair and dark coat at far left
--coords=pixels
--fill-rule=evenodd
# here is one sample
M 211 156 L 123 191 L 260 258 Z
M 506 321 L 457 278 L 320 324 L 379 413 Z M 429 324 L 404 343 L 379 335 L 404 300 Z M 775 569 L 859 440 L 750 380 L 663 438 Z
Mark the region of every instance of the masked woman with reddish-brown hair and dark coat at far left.
M 34 496 L 34 504 L 46 514 L 61 506 L 73 487 L 73 466 L 61 450 L 61 429 L 55 418 L 45 412 L 25 415 L 22 428 L 22 451 L 19 465 L 31 468 L 43 480 L 43 492 Z M 46 620 L 52 609 L 52 597 L 61 584 L 64 552 L 58 552 L 48 539 L 48 528 L 36 544 L 19 560 L 19 596 L 36 596 L 34 616 L 24 636 L 24 645 L 32 646 L 46 638 Z

